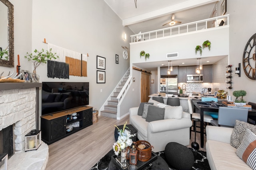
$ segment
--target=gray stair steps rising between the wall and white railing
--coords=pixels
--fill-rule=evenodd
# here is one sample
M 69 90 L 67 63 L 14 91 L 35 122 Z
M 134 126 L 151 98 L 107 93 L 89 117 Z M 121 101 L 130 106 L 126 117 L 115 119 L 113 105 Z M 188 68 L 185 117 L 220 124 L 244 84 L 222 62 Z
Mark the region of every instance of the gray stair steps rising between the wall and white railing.
M 104 110 L 100 111 L 100 115 L 105 117 L 111 117 L 116 119 L 117 114 L 117 105 L 118 105 L 118 99 L 117 96 L 124 87 L 124 84 L 128 80 L 128 77 L 130 75 L 130 70 L 126 72 L 122 80 L 119 82 L 117 88 L 114 90 L 112 96 L 110 96 L 110 100 L 108 100 L 108 104 L 104 106 Z

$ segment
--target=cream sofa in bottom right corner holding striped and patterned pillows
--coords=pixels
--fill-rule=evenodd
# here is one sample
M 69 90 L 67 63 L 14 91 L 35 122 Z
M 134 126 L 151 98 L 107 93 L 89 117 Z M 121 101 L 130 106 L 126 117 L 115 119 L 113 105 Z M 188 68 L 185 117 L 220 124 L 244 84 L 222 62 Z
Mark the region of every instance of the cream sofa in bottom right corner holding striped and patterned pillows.
M 206 154 L 211 170 L 252 170 L 230 145 L 233 128 L 206 126 Z

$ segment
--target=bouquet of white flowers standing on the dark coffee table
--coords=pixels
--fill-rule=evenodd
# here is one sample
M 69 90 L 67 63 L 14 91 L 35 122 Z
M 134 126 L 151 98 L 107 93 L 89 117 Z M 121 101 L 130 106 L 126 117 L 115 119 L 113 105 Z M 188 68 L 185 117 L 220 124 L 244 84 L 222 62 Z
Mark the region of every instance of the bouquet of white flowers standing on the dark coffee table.
M 115 154 L 118 156 L 120 151 L 122 149 L 125 149 L 126 147 L 130 147 L 132 145 L 132 139 L 130 137 L 136 136 L 136 133 L 133 135 L 131 134 L 131 131 L 128 131 L 128 127 L 126 127 L 127 122 L 124 124 L 123 129 L 119 129 L 116 125 L 115 127 L 118 129 L 118 140 L 113 145 L 113 150 Z M 127 129 L 125 129 L 127 128 Z

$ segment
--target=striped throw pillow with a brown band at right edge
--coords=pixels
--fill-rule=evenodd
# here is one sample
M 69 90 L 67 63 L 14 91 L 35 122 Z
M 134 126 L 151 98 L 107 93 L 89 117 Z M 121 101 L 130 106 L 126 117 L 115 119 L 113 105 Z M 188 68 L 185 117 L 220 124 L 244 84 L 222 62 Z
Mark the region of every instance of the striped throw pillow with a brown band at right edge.
M 236 150 L 236 155 L 256 170 L 256 135 L 246 129 L 241 145 Z

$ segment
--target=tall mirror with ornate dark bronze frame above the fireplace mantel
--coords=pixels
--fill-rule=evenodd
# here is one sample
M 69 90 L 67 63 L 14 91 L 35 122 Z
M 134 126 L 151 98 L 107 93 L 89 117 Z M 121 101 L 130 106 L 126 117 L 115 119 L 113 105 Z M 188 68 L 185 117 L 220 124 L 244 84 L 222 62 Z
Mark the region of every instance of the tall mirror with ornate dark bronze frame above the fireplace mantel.
M 0 65 L 14 67 L 14 17 L 13 5 L 0 0 Z

